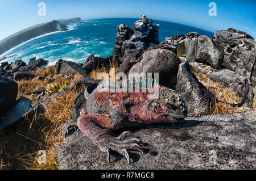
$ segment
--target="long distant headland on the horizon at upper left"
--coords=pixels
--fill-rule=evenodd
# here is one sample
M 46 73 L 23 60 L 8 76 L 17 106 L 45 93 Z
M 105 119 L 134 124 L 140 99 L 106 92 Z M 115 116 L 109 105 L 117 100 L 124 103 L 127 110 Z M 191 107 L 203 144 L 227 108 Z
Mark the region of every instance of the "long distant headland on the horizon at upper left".
M 67 28 L 67 24 L 79 23 L 80 21 L 81 18 L 53 20 L 52 22 L 37 24 L 30 28 L 26 28 L 25 30 L 19 31 L 0 41 L 0 55 L 24 41 L 46 33 L 59 31 L 63 28 Z

